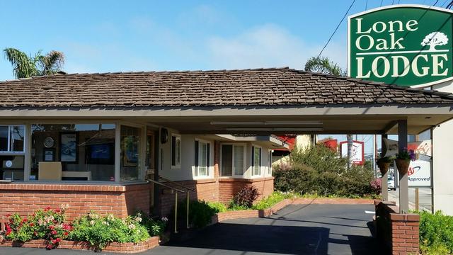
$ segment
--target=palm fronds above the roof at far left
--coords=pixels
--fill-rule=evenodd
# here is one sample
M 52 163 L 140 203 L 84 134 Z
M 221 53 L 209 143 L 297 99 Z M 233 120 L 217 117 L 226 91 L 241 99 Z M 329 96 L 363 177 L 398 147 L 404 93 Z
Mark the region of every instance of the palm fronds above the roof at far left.
M 55 74 L 64 64 L 62 52 L 52 50 L 46 55 L 37 52 L 34 56 L 27 56 L 21 50 L 6 48 L 3 50 L 6 60 L 13 65 L 13 73 L 16 79 Z

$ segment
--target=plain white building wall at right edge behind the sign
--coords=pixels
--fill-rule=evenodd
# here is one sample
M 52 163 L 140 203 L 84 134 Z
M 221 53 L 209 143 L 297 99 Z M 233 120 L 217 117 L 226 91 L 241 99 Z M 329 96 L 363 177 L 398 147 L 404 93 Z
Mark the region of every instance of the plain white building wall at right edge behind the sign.
M 453 93 L 453 84 L 439 84 L 432 89 Z M 432 131 L 434 210 L 453 215 L 453 120 Z

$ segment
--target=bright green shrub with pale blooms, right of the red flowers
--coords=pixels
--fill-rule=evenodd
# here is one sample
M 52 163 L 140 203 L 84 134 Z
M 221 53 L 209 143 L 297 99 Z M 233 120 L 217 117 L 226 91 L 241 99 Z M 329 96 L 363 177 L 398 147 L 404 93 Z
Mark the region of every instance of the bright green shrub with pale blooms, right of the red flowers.
M 72 222 L 69 239 L 89 242 L 98 249 L 103 249 L 109 242 L 141 242 L 149 238 L 147 228 L 141 222 L 141 215 L 120 219 L 113 215 L 101 216 L 90 212 Z

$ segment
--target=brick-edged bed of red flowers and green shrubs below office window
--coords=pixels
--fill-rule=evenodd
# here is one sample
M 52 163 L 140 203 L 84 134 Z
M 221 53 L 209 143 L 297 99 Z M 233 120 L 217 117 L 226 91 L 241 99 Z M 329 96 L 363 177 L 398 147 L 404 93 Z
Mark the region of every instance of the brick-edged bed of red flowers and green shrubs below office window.
M 8 215 L 5 231 L 0 233 L 1 246 L 33 248 L 93 249 L 124 253 L 140 252 L 159 244 L 166 219 L 142 218 L 141 213 L 125 219 L 90 212 L 72 222 L 64 220 L 67 205 L 36 210 L 23 218 Z

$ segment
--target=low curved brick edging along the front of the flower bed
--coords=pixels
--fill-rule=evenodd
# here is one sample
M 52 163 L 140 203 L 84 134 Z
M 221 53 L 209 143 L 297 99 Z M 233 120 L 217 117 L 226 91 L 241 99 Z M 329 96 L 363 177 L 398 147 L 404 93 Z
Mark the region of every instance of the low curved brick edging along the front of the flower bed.
M 5 239 L 0 241 L 0 246 L 8 247 L 24 247 L 24 248 L 42 248 L 45 249 L 47 241 L 40 240 L 31 240 L 29 242 L 12 242 Z M 146 241 L 136 243 L 117 243 L 111 242 L 103 251 L 111 251 L 124 254 L 139 253 L 142 251 L 147 251 L 156 246 L 159 246 L 159 237 L 150 237 Z M 57 246 L 57 249 L 78 249 L 78 250 L 96 250 L 96 246 L 91 246 L 89 242 L 76 242 L 76 241 L 67 241 L 62 240 Z

